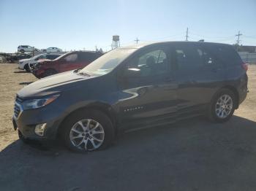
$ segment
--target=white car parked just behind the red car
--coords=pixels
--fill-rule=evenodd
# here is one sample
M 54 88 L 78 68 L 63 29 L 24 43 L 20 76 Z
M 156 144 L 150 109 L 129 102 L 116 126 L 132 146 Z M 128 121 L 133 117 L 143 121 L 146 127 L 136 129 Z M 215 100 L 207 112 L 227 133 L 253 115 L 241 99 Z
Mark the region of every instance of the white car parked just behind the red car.
M 32 58 L 28 58 L 28 59 L 22 59 L 18 62 L 18 69 L 21 70 L 26 70 L 26 71 L 30 71 L 30 67 L 29 65 L 31 64 L 36 64 L 39 61 L 42 60 L 54 60 L 55 58 L 58 58 L 61 54 L 58 53 L 44 53 L 41 55 L 36 55 Z

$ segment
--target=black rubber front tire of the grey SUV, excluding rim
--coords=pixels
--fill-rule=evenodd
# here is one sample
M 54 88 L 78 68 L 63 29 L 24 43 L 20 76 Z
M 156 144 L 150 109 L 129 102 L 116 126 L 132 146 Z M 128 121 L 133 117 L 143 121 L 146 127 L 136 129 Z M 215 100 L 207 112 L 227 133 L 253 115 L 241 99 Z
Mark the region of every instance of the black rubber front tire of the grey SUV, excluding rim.
M 72 142 L 69 139 L 69 133 L 72 126 L 79 120 L 83 120 L 83 119 L 96 120 L 97 122 L 99 122 L 100 125 L 102 125 L 102 128 L 104 129 L 104 132 L 105 132 L 104 141 L 102 145 L 95 151 L 107 148 L 112 143 L 114 138 L 113 123 L 111 122 L 111 120 L 108 118 L 106 114 L 94 109 L 90 109 L 90 110 L 81 109 L 80 111 L 75 112 L 74 114 L 71 114 L 67 118 L 67 120 L 64 121 L 64 125 L 61 127 L 62 128 L 61 136 L 64 141 L 64 144 L 69 149 L 75 152 L 90 152 L 83 149 L 78 149 L 72 144 Z

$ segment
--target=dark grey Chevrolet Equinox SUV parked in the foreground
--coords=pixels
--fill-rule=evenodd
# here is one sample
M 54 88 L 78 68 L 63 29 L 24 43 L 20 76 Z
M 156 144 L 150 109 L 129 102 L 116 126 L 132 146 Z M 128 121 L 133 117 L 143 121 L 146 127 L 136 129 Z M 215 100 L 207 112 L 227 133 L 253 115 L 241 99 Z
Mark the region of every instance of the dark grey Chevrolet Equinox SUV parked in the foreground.
M 207 114 L 230 119 L 246 98 L 247 66 L 228 44 L 159 42 L 112 50 L 83 69 L 40 79 L 17 94 L 23 141 L 61 137 L 69 149 L 104 149 L 119 130 Z

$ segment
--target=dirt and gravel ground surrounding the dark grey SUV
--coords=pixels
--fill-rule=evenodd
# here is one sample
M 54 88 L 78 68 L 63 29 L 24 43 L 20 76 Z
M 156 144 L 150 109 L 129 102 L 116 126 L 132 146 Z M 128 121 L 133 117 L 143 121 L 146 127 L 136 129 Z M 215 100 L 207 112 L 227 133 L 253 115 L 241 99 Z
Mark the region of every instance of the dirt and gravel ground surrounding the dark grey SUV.
M 255 190 L 256 65 L 248 74 L 250 92 L 229 122 L 198 117 L 127 133 L 81 155 L 18 140 L 15 93 L 37 79 L 0 64 L 0 190 Z

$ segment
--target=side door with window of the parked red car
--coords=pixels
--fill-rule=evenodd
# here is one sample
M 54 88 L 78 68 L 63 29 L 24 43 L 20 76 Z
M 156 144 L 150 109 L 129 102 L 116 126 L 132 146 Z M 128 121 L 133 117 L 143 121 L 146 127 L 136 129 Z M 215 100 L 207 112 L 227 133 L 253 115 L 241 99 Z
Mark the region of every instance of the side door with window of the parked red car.
M 59 72 L 70 71 L 80 68 L 78 52 L 73 52 L 62 58 L 59 63 Z

